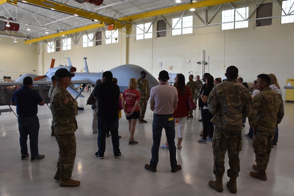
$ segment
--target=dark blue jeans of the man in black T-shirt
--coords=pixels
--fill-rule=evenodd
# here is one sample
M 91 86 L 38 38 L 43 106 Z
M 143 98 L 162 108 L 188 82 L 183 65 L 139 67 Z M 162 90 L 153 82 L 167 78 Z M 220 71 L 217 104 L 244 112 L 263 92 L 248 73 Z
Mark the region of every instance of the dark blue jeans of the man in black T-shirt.
M 105 143 L 106 143 L 106 133 L 109 127 L 111 133 L 111 141 L 113 154 L 119 155 L 121 152 L 119 150 L 119 138 L 118 138 L 118 118 L 116 119 L 104 119 L 97 117 L 98 121 L 98 156 L 104 156 Z

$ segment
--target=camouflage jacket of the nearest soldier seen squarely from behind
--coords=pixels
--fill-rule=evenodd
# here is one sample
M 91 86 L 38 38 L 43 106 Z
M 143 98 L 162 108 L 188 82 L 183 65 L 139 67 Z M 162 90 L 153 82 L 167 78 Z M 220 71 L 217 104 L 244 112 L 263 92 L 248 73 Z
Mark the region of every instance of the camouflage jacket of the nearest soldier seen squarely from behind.
M 214 86 L 208 96 L 208 109 L 215 114 L 211 122 L 224 130 L 242 130 L 242 118 L 250 116 L 251 93 L 237 80 L 227 79 Z

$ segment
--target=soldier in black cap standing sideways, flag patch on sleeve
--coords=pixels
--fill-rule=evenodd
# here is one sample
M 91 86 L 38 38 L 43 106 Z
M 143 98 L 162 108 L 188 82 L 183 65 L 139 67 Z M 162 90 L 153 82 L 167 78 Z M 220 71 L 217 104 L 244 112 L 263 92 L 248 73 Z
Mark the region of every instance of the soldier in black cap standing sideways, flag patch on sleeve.
M 54 120 L 55 138 L 59 147 L 59 158 L 55 180 L 60 180 L 61 187 L 76 187 L 80 181 L 72 180 L 71 173 L 76 158 L 76 137 L 77 130 L 76 115 L 78 114 L 78 103 L 66 88 L 71 84 L 70 73 L 66 68 L 60 68 L 55 72 L 57 85 L 51 96 L 51 113 Z

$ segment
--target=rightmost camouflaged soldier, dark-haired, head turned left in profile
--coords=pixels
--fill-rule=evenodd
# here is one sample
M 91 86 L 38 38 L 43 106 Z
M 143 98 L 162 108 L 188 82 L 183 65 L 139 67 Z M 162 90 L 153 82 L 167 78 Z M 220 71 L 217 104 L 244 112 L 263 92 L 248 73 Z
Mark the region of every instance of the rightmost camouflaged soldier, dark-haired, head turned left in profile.
M 252 165 L 258 172 L 250 172 L 250 176 L 260 180 L 267 180 L 267 168 L 276 125 L 282 121 L 284 106 L 282 96 L 272 91 L 270 77 L 267 74 L 257 76 L 257 90 L 260 91 L 253 98 L 253 110 L 249 124 L 253 127 L 252 147 L 255 153 L 256 165 Z

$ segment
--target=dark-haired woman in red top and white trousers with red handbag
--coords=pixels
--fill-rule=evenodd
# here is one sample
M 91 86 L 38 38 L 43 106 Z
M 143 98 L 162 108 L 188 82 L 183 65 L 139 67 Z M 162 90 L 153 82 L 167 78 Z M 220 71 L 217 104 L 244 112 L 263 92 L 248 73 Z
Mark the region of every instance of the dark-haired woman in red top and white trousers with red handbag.
M 187 103 L 187 97 L 191 95 L 190 89 L 186 86 L 185 83 L 185 76 L 181 73 L 178 73 L 175 78 L 175 85 L 178 90 L 178 108 L 174 112 L 175 120 L 179 120 L 179 135 L 178 135 L 178 150 L 182 149 L 181 143 L 184 137 L 184 128 L 187 121 L 187 115 L 188 115 L 188 103 Z M 166 143 L 161 145 L 160 148 L 169 149 L 168 142 L 166 140 Z

